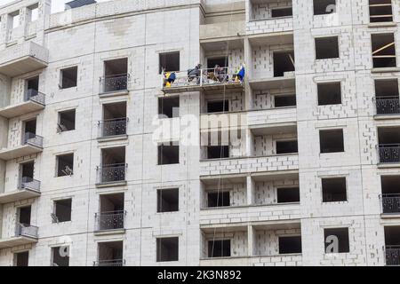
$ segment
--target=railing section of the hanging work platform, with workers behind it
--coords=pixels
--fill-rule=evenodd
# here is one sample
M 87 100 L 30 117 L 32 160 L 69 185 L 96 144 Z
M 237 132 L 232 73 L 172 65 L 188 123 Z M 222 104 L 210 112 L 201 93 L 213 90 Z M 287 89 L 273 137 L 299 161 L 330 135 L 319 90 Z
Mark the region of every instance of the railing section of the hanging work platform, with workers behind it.
M 242 83 L 243 78 L 241 78 L 238 73 L 238 68 L 232 67 L 163 72 L 163 88 L 173 89 L 191 86 L 202 87 Z M 175 77 L 174 79 L 171 77 L 172 74 Z

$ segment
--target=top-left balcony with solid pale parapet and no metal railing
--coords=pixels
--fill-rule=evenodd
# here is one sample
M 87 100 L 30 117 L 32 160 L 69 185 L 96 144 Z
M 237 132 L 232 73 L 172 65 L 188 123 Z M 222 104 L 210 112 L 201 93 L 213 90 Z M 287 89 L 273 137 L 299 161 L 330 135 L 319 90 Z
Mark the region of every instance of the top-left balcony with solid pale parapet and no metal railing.
M 0 55 L 0 73 L 10 77 L 47 67 L 49 51 L 33 42 L 13 45 Z

